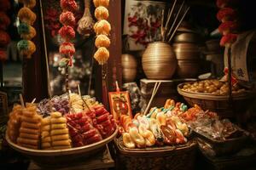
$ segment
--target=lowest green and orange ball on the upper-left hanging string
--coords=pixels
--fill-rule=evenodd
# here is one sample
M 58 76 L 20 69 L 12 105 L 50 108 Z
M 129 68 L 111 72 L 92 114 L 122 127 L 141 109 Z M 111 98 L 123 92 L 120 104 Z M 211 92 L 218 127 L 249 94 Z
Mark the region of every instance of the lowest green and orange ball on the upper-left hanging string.
M 30 40 L 20 40 L 20 42 L 17 43 L 17 48 L 20 54 L 25 55 L 28 59 L 30 59 L 31 55 L 36 51 L 36 45 Z

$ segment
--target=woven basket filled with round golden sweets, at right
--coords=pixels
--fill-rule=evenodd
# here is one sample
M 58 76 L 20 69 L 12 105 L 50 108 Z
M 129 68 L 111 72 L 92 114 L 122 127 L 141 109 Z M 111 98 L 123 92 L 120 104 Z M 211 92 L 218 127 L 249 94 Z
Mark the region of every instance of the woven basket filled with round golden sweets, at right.
M 247 111 L 255 94 L 250 90 L 235 86 L 232 88 L 230 102 L 228 82 L 215 79 L 181 83 L 177 86 L 177 92 L 189 105 L 200 105 L 202 109 L 215 111 L 222 117 L 235 117 Z

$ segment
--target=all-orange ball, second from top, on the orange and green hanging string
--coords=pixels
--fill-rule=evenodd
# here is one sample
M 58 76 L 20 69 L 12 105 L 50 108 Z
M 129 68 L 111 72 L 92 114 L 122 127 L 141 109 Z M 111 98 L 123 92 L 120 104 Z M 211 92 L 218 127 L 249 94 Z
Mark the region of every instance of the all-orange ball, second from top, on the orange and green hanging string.
M 30 26 L 32 26 L 37 19 L 37 15 L 32 12 L 30 8 L 20 8 L 20 11 L 18 13 L 18 17 L 21 22 L 24 22 Z

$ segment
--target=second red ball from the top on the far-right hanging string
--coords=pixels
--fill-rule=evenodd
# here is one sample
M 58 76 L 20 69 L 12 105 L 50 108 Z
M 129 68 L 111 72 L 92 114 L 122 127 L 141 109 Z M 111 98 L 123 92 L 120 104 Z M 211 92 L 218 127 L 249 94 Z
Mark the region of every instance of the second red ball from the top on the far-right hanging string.
M 218 10 L 217 18 L 221 22 L 236 20 L 236 10 L 233 8 L 221 8 Z

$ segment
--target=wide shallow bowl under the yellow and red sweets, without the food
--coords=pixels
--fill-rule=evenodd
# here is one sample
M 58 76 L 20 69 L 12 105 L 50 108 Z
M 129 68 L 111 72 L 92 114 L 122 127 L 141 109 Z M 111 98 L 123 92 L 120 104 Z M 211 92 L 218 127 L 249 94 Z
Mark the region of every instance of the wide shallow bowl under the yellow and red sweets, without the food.
M 103 150 L 105 148 L 105 144 L 112 141 L 117 133 L 118 128 L 116 128 L 114 133 L 107 139 L 103 139 L 95 144 L 88 144 L 65 150 L 33 150 L 13 143 L 7 134 L 5 135 L 5 138 L 10 147 L 19 151 L 25 156 L 30 157 L 40 167 L 64 167 L 67 164 L 70 165 L 76 161 L 79 161 L 81 158 L 92 156 L 99 150 Z

